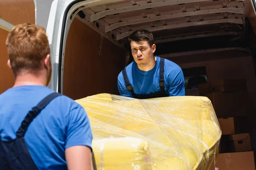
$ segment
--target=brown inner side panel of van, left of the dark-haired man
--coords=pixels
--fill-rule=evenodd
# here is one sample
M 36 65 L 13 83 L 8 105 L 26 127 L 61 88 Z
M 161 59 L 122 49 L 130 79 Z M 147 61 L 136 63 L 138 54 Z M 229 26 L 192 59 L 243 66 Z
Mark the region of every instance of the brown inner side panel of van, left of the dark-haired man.
M 110 93 L 119 94 L 117 76 L 125 67 L 125 50 L 74 19 L 67 37 L 63 94 L 72 99 Z

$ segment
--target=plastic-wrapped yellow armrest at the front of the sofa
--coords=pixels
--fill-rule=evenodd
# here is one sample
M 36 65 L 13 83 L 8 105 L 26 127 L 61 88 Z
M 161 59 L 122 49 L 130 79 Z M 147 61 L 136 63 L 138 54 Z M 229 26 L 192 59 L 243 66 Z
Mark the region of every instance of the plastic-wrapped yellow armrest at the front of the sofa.
M 149 170 L 148 144 L 137 138 L 95 139 L 92 143 L 97 170 Z

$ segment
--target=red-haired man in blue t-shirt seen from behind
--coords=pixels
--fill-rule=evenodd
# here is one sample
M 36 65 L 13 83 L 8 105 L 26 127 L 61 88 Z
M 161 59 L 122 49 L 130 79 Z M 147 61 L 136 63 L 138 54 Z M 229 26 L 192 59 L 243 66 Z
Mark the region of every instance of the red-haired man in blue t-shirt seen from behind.
M 92 170 L 86 111 L 46 87 L 52 65 L 45 29 L 17 25 L 6 45 L 15 84 L 0 95 L 0 169 Z

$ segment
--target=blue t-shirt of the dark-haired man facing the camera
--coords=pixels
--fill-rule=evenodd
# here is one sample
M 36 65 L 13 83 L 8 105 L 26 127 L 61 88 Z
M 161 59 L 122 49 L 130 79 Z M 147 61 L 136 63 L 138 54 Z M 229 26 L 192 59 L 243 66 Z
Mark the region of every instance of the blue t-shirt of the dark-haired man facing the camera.
M 150 71 L 140 70 L 136 62 L 132 62 L 126 67 L 127 76 L 135 94 L 143 95 L 160 91 L 160 57 L 156 57 L 156 64 Z M 118 75 L 118 89 L 121 96 L 134 97 L 125 86 L 122 72 Z M 169 96 L 185 96 L 182 69 L 168 59 L 165 59 L 164 62 L 164 89 Z

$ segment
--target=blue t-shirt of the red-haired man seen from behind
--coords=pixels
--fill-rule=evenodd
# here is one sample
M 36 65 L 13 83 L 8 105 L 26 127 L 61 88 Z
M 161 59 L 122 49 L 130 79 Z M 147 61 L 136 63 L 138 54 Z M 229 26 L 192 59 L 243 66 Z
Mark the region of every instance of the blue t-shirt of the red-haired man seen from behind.
M 41 85 L 10 88 L 0 95 L 0 135 L 16 138 L 28 111 L 53 93 Z M 67 96 L 58 96 L 31 122 L 25 136 L 29 153 L 41 170 L 66 170 L 65 149 L 74 145 L 91 148 L 93 139 L 84 108 Z

